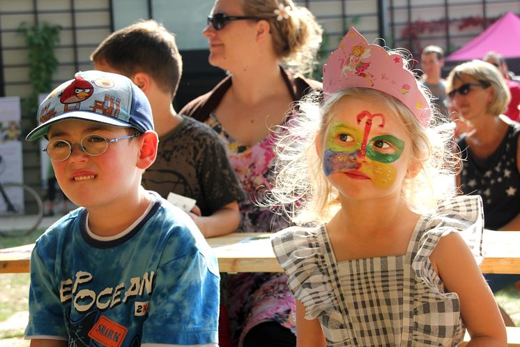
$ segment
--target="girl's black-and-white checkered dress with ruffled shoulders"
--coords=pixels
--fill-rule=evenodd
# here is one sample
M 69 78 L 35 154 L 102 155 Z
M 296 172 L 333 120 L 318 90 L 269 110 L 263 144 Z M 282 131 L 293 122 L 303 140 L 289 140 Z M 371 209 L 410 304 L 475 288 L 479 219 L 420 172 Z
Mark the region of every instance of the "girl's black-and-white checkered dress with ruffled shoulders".
M 325 226 L 288 228 L 272 242 L 289 288 L 305 318 L 319 318 L 328 347 L 457 346 L 465 330 L 459 298 L 447 293 L 429 255 L 441 237 L 460 232 L 480 261 L 482 231 L 475 195 L 422 216 L 403 256 L 337 263 Z

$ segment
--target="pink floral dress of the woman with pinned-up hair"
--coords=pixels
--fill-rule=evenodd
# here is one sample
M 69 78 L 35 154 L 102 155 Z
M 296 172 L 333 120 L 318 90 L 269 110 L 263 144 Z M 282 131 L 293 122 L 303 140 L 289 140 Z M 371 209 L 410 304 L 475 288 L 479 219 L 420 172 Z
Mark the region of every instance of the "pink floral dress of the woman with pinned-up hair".
M 239 202 L 240 225 L 238 232 L 277 232 L 289 226 L 282 216 L 270 211 L 269 207 L 255 204 L 260 202 L 263 192 L 270 187 L 275 163 L 275 134 L 256 145 L 247 146 L 236 141 L 224 129 L 211 112 L 205 121 L 215 130 L 227 147 L 227 154 L 234 167 L 238 181 L 245 192 Z M 245 334 L 255 325 L 273 320 L 294 331 L 291 316 L 294 297 L 287 286 L 284 274 L 244 273 L 223 276 L 222 303 L 229 313 L 231 338 L 235 346 L 242 346 Z

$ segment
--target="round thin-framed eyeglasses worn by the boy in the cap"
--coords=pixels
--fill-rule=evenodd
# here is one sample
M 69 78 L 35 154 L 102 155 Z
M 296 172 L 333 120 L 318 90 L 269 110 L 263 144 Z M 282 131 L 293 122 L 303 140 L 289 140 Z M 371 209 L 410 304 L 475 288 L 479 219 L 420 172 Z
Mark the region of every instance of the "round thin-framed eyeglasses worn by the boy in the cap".
M 125 136 L 123 138 L 114 138 L 108 140 L 105 136 L 98 134 L 85 135 L 79 143 L 71 143 L 66 140 L 52 140 L 47 145 L 47 148 L 43 149 L 43 152 L 47 152 L 49 158 L 53 161 L 66 161 L 70 154 L 72 154 L 72 147 L 78 145 L 80 149 L 89 156 L 100 156 L 107 152 L 108 144 L 110 142 L 117 142 L 128 138 L 137 138 L 141 133 L 135 133 L 134 135 Z

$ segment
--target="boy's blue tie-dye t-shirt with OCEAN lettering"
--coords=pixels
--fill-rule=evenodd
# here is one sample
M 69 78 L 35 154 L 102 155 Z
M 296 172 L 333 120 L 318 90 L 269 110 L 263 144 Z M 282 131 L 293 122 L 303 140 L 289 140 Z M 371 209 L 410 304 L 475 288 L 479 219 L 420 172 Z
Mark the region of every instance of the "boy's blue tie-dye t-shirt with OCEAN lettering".
M 69 346 L 217 344 L 217 259 L 190 216 L 154 196 L 118 239 L 91 237 L 80 208 L 36 241 L 26 337 Z

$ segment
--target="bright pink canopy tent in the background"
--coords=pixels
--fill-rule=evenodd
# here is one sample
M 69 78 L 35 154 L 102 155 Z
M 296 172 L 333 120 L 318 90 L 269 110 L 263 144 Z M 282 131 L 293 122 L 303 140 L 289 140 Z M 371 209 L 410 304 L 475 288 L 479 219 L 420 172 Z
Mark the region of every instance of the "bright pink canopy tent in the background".
M 519 16 L 512 12 L 506 13 L 482 34 L 446 57 L 445 61 L 482 59 L 491 50 L 502 54 L 504 58 L 520 57 Z

